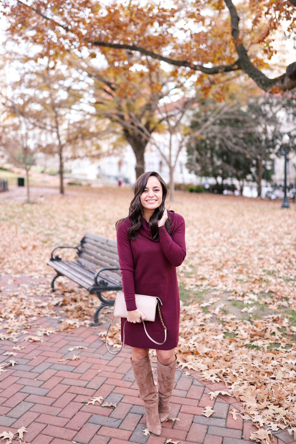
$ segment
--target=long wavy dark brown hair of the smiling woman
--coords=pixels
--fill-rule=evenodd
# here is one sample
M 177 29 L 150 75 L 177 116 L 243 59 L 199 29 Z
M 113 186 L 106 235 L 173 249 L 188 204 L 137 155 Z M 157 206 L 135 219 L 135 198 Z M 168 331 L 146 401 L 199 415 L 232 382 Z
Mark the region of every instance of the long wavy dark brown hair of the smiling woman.
M 163 180 L 163 178 L 156 173 L 156 171 L 147 171 L 146 173 L 141 174 L 141 176 L 137 179 L 135 185 L 134 185 L 134 198 L 130 202 L 130 208 L 129 208 L 129 215 L 127 218 L 120 219 L 116 222 L 116 229 L 120 222 L 125 221 L 126 219 L 130 219 L 130 227 L 127 230 L 129 238 L 132 240 L 136 239 L 136 233 L 140 226 L 142 225 L 143 220 L 143 206 L 141 203 L 141 194 L 144 192 L 148 178 L 150 176 L 156 177 L 162 186 L 162 203 L 158 208 L 155 209 L 154 213 L 149 219 L 149 226 L 151 230 L 151 238 L 156 239 L 158 237 L 158 221 L 162 218 L 162 214 L 165 209 L 165 200 L 167 198 L 167 195 L 169 194 L 169 191 L 166 186 L 166 182 Z M 171 227 L 171 220 L 168 213 L 168 218 L 165 223 L 166 231 L 170 234 L 170 227 Z

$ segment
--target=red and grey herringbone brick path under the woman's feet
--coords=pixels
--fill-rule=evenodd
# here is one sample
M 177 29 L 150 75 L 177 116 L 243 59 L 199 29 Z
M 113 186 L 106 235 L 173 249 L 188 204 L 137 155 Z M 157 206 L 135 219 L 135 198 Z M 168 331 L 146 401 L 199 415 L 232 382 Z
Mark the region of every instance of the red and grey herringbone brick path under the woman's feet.
M 59 325 L 48 317 L 36 323 L 49 328 Z M 164 444 L 169 438 L 179 444 L 249 441 L 257 428 L 248 421 L 243 424 L 240 416 L 233 420 L 229 413 L 229 408 L 240 410 L 241 403 L 230 396 L 210 399 L 210 391 L 227 390 L 225 385 L 200 381 L 199 372 L 186 375 L 180 369 L 170 404 L 170 417 L 179 420 L 163 423 L 161 436 L 145 436 L 145 408 L 130 366 L 130 347 L 116 357 L 108 353 L 98 337 L 107 325 L 79 327 L 71 334 L 57 331 L 45 336 L 42 343 L 1 341 L 0 363 L 12 359 L 3 353 L 12 351 L 14 345 L 26 348 L 13 357 L 18 364 L 0 374 L 0 433 L 15 433 L 24 426 L 28 430 L 24 441 L 32 444 Z M 79 345 L 87 349 L 68 350 Z M 80 356 L 78 361 L 59 362 L 73 353 Z M 151 365 L 157 380 L 156 363 Z M 86 405 L 93 396 L 103 396 L 102 404 L 111 402 L 116 408 L 101 407 L 98 402 Z M 208 405 L 215 410 L 210 418 L 202 415 Z M 274 444 L 296 444 L 287 430 L 273 433 Z

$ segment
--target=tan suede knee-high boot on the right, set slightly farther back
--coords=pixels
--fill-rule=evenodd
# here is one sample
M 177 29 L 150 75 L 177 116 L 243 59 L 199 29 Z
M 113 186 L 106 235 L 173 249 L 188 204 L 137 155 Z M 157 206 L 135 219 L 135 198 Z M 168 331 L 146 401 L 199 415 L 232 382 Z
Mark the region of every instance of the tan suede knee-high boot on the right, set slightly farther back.
M 176 367 L 177 357 L 170 365 L 163 365 L 157 360 L 158 416 L 160 422 L 169 417 L 169 401 L 174 388 Z

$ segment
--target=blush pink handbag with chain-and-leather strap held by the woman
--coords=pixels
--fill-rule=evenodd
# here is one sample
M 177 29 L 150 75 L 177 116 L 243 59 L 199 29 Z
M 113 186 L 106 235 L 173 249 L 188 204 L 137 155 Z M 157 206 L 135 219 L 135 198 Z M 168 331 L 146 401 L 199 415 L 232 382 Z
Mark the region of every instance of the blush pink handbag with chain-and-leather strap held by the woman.
M 167 330 L 167 328 L 166 328 L 166 326 L 164 325 L 164 323 L 162 321 L 162 313 L 160 313 L 159 302 L 162 305 L 162 301 L 159 299 L 159 297 L 156 297 L 156 296 L 145 296 L 144 294 L 135 294 L 135 300 L 136 300 L 137 308 L 139 310 L 141 310 L 142 313 L 145 316 L 145 321 L 151 321 L 151 322 L 155 321 L 156 305 L 158 305 L 159 317 L 160 317 L 160 320 L 162 322 L 163 328 L 165 330 L 165 340 L 163 342 L 156 342 L 156 341 L 154 341 L 154 339 L 152 339 L 152 337 L 150 337 L 149 334 L 147 333 L 146 325 L 145 325 L 145 322 L 142 320 L 142 318 L 141 318 L 141 321 L 142 321 L 142 324 L 144 326 L 145 333 L 146 333 L 147 337 L 149 337 L 150 341 L 154 342 L 154 344 L 157 344 L 157 345 L 164 344 L 166 342 L 166 330 Z M 118 353 L 121 352 L 122 347 L 124 345 L 124 326 L 126 325 L 127 320 L 123 324 L 123 341 L 122 341 L 121 349 L 118 350 L 118 352 L 114 353 L 114 352 L 111 352 L 111 350 L 109 350 L 109 347 L 108 347 L 108 344 L 107 344 L 108 333 L 109 333 L 111 325 L 113 324 L 114 317 L 127 317 L 126 301 L 124 299 L 124 294 L 122 293 L 122 291 L 118 291 L 118 293 L 116 294 L 116 298 L 115 298 L 115 302 L 114 302 L 112 321 L 111 321 L 111 324 L 109 325 L 108 331 L 106 333 L 106 339 L 105 339 L 105 344 L 106 344 L 108 352 L 111 353 L 112 355 L 118 355 Z

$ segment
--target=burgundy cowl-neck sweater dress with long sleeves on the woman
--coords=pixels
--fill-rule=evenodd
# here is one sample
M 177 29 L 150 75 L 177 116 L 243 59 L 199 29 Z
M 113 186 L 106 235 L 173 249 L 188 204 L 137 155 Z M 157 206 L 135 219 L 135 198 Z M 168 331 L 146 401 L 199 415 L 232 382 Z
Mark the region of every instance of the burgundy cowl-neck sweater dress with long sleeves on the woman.
M 141 323 L 126 322 L 125 343 L 141 349 L 171 350 L 178 345 L 180 299 L 176 267 L 186 256 L 185 222 L 180 214 L 168 212 L 171 219 L 170 234 L 164 226 L 158 228 L 158 238 L 151 239 L 148 222 L 143 218 L 135 240 L 130 240 L 127 229 L 130 220 L 122 221 L 117 228 L 117 249 L 122 274 L 122 287 L 127 311 L 137 309 L 136 294 L 158 296 L 161 313 L 167 328 L 167 339 L 163 345 L 154 344 L 146 336 Z M 121 318 L 121 337 L 123 324 Z M 164 340 L 164 328 L 160 321 L 158 308 L 155 321 L 145 321 L 148 334 L 157 342 Z

